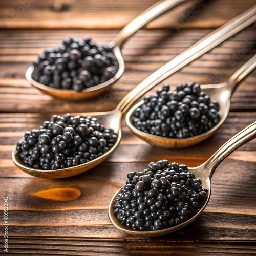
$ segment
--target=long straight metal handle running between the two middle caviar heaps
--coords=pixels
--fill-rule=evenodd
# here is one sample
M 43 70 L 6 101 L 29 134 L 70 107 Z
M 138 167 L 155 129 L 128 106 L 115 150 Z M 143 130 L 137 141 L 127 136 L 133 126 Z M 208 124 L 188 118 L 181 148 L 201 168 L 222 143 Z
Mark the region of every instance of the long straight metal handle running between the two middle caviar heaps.
M 147 91 L 229 37 L 256 21 L 256 5 L 211 32 L 143 80 L 117 105 L 123 114 Z

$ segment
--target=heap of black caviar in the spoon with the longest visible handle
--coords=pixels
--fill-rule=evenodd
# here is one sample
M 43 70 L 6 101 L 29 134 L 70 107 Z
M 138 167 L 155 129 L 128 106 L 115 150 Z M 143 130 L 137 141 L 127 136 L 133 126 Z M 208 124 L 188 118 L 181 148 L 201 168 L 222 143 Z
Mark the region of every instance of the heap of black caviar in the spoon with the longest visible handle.
M 26 166 L 54 170 L 89 162 L 109 151 L 116 140 L 117 135 L 95 117 L 53 115 L 26 132 L 16 149 Z

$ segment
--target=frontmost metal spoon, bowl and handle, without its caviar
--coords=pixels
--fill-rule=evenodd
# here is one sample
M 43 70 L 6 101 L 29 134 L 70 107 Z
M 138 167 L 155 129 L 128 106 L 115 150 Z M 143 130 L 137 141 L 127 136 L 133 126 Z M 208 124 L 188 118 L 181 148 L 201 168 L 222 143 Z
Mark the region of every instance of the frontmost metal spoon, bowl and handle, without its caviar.
M 247 126 L 244 130 L 242 130 L 237 135 L 233 136 L 231 139 L 229 139 L 223 146 L 219 148 L 219 150 L 216 151 L 214 155 L 212 155 L 209 160 L 207 160 L 205 163 L 198 167 L 194 168 L 187 168 L 188 172 L 193 173 L 196 178 L 200 178 L 202 180 L 202 187 L 208 189 L 208 195 L 207 200 L 204 203 L 203 207 L 197 212 L 196 215 L 194 215 L 192 218 L 188 219 L 187 221 L 166 229 L 156 230 L 156 231 L 136 231 L 131 228 L 126 228 L 123 226 L 120 221 L 117 219 L 117 217 L 114 214 L 114 204 L 115 204 L 115 198 L 120 193 L 121 189 L 117 191 L 117 193 L 114 195 L 114 197 L 111 199 L 110 205 L 109 205 L 109 218 L 111 223 L 118 229 L 129 233 L 133 236 L 140 236 L 140 237 L 159 237 L 164 236 L 165 234 L 175 232 L 179 230 L 180 228 L 185 227 L 190 222 L 194 221 L 196 218 L 198 218 L 203 210 L 205 209 L 207 203 L 210 199 L 211 194 L 211 177 L 214 173 L 217 166 L 225 159 L 227 158 L 232 152 L 236 151 L 239 147 L 244 145 L 246 142 L 254 139 L 256 137 L 256 122 L 252 123 L 251 125 Z

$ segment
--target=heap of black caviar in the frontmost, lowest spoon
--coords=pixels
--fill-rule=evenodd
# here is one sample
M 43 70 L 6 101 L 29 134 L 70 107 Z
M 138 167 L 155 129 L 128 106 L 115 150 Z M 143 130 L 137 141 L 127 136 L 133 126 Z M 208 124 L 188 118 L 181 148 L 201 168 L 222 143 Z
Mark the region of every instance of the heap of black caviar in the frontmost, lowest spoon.
M 140 231 L 173 227 L 193 217 L 204 205 L 208 190 L 185 164 L 160 160 L 142 172 L 127 175 L 115 198 L 114 214 L 123 226 Z

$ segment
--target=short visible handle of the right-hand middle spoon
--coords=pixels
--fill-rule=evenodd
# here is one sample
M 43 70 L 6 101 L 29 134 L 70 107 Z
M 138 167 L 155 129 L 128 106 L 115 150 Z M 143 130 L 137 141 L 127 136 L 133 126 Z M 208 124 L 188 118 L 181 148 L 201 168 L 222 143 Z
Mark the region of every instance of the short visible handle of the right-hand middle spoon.
M 228 86 L 233 92 L 238 84 L 256 68 L 256 54 L 228 79 Z

